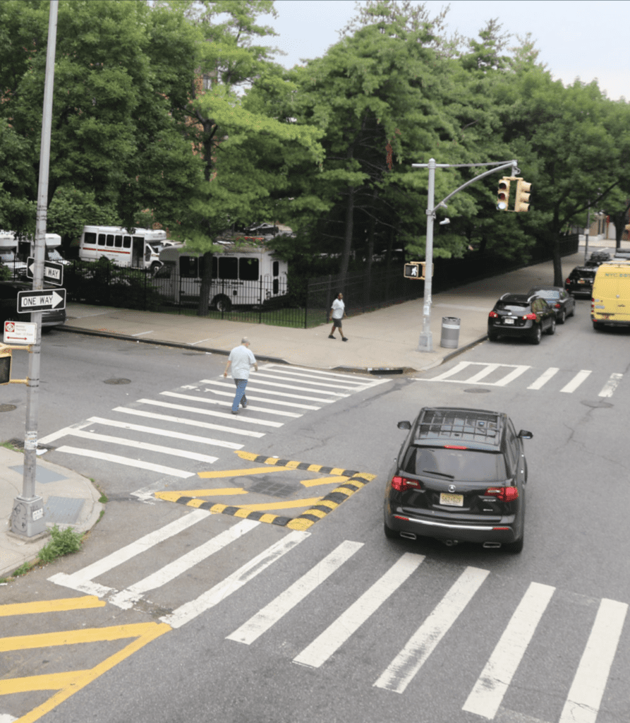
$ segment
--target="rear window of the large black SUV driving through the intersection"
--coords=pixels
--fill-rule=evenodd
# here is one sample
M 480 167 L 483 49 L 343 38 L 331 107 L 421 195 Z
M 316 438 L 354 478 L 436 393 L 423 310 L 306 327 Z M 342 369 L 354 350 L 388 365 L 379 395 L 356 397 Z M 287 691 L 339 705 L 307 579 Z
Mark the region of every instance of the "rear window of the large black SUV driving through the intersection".
M 503 455 L 481 450 L 412 445 L 405 454 L 402 468 L 410 474 L 464 482 L 499 482 L 507 477 Z

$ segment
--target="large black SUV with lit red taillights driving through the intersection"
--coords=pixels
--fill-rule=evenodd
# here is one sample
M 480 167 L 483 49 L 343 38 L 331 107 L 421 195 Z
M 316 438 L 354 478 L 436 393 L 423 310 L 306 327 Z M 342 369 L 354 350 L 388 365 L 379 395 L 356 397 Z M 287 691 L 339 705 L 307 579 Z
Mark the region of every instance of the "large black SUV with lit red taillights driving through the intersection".
M 521 552 L 527 462 L 506 414 L 485 409 L 422 408 L 385 489 L 389 538 L 434 537 L 446 545 L 480 542 Z

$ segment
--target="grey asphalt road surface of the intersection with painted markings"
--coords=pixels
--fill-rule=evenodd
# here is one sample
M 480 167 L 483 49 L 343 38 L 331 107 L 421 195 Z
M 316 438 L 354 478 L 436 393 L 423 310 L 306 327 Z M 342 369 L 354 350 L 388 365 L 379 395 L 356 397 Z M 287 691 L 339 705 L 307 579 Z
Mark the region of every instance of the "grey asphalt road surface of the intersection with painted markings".
M 413 377 L 262 364 L 230 419 L 224 358 L 51 335 L 47 458 L 112 501 L 82 552 L 0 588 L 33 604 L 6 618 L 20 646 L 0 647 L 0 721 L 626 721 L 628 339 L 593 332 L 578 301 L 540 346 L 486 342 Z M 431 405 L 533 432 L 522 554 L 385 539 L 396 423 Z M 344 471 L 366 484 L 305 529 L 199 508 L 293 518 Z M 69 609 L 45 612 L 56 599 Z

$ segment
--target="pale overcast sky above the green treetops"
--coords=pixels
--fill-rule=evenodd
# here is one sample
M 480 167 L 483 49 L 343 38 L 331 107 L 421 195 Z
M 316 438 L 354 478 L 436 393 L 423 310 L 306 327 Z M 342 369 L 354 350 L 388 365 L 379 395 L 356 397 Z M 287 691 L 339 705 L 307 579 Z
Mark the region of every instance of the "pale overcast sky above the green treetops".
M 428 0 L 431 17 L 446 6 Z M 620 0 L 452 0 L 446 15 L 446 32 L 456 30 L 465 37 L 477 36 L 487 20 L 497 18 L 503 30 L 513 35 L 532 33 L 539 60 L 553 77 L 565 84 L 576 77 L 583 82 L 595 78 L 609 98 L 630 99 L 629 69 L 630 2 Z M 271 46 L 287 55 L 276 61 L 287 68 L 301 59 L 322 56 L 337 43 L 341 30 L 355 14 L 354 0 L 276 0 L 279 17 L 259 16 L 272 25 L 276 38 Z

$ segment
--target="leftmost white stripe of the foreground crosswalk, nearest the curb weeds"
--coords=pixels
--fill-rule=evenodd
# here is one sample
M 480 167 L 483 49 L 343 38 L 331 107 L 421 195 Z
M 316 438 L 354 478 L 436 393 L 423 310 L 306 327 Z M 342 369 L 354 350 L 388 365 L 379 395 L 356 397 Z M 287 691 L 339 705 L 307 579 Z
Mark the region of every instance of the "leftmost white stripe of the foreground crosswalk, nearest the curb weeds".
M 62 585 L 77 591 L 83 591 L 84 588 L 81 587 L 82 584 L 90 582 L 94 578 L 98 578 L 99 576 L 108 573 L 110 570 L 113 570 L 113 568 L 117 568 L 118 565 L 122 565 L 123 562 L 131 560 L 132 557 L 140 555 L 141 552 L 147 552 L 156 544 L 165 542 L 165 540 L 168 540 L 176 534 L 189 529 L 189 527 L 196 525 L 198 522 L 201 522 L 207 517 L 210 517 L 210 513 L 206 512 L 206 510 L 194 510 L 194 512 L 184 515 L 173 522 L 169 522 L 167 525 L 160 527 L 160 529 L 149 532 L 137 539 L 135 542 L 130 542 L 124 547 L 117 549 L 116 552 L 112 552 L 110 555 L 101 557 L 100 560 L 96 560 L 96 562 L 92 562 L 91 565 L 87 565 L 87 567 L 77 570 L 76 573 L 72 573 L 70 575 L 67 573 L 57 573 L 56 575 L 48 578 L 48 580 L 56 583 L 57 585 Z M 109 590 L 109 588 L 105 589 Z

